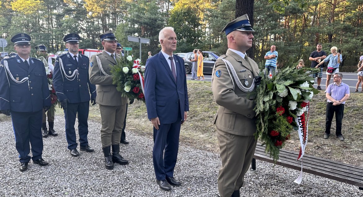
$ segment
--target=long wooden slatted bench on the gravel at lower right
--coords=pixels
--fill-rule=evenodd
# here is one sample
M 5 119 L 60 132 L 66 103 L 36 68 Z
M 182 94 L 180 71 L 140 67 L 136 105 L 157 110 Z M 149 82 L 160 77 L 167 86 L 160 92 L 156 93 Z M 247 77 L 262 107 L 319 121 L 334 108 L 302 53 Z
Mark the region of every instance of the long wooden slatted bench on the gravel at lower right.
M 298 153 L 280 150 L 276 165 L 301 171 L 301 161 L 297 161 Z M 269 154 L 265 153 L 265 147 L 257 144 L 252 160 L 252 170 L 256 170 L 256 159 L 274 163 Z M 303 156 L 303 172 L 358 186 L 363 190 L 363 168 L 330 159 L 319 158 L 311 155 Z

